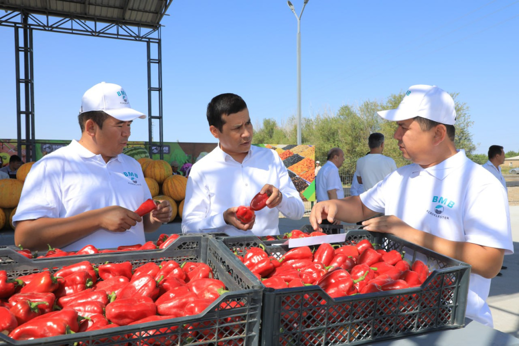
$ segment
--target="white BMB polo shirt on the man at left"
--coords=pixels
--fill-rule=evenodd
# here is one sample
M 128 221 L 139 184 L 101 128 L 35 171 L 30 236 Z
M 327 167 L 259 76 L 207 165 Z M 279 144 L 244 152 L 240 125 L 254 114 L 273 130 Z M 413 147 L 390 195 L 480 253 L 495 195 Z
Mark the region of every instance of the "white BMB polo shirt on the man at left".
M 101 155 L 73 140 L 31 167 L 13 223 L 43 217 L 66 218 L 113 205 L 133 211 L 148 198 L 152 196 L 135 159 L 119 154 L 105 163 Z M 99 229 L 63 249 L 73 251 L 88 244 L 113 248 L 144 243 L 144 225 L 139 222 L 126 232 Z

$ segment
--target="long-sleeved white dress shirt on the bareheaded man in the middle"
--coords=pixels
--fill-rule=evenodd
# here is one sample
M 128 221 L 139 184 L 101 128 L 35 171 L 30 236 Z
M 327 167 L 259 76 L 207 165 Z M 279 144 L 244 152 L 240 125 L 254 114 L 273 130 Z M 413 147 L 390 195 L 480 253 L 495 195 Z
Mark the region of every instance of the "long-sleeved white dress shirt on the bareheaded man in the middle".
M 223 212 L 231 207 L 249 206 L 265 184 L 281 190 L 281 203 L 275 208 L 265 207 L 256 211 L 252 230 L 242 231 L 226 224 Z M 279 212 L 298 220 L 303 217 L 305 206 L 278 153 L 252 146 L 240 164 L 218 145 L 191 168 L 187 179 L 182 232 L 224 232 L 231 236 L 277 235 Z

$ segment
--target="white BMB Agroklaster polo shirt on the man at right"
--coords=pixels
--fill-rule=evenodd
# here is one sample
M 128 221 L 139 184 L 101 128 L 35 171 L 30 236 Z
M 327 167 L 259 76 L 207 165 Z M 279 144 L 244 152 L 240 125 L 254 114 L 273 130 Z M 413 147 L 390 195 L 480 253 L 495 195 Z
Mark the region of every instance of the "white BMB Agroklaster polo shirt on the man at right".
M 488 178 L 460 150 L 433 167 L 401 167 L 360 198 L 371 210 L 397 216 L 418 230 L 513 254 L 507 193 Z M 466 316 L 493 326 L 486 303 L 489 289 L 490 279 L 470 274 Z

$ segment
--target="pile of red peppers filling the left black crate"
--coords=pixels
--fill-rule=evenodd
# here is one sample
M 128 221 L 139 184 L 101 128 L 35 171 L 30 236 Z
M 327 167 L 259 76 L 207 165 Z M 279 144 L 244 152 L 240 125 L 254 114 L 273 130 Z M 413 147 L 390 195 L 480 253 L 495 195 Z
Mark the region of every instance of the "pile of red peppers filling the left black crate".
M 130 262 L 82 261 L 16 280 L 0 271 L 0 332 L 28 340 L 195 315 L 224 292 L 202 262 L 147 262 L 133 269 Z M 213 329 L 197 330 L 190 337 L 207 338 Z

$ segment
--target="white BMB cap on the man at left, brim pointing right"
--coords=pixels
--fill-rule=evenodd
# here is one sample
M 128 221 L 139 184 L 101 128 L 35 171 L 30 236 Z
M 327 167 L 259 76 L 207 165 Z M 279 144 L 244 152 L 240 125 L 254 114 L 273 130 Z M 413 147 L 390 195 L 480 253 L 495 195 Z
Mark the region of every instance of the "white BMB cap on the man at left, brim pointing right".
M 94 85 L 83 95 L 79 114 L 90 111 L 103 111 L 123 122 L 146 118 L 146 115 L 131 109 L 128 96 L 121 86 L 105 82 Z

